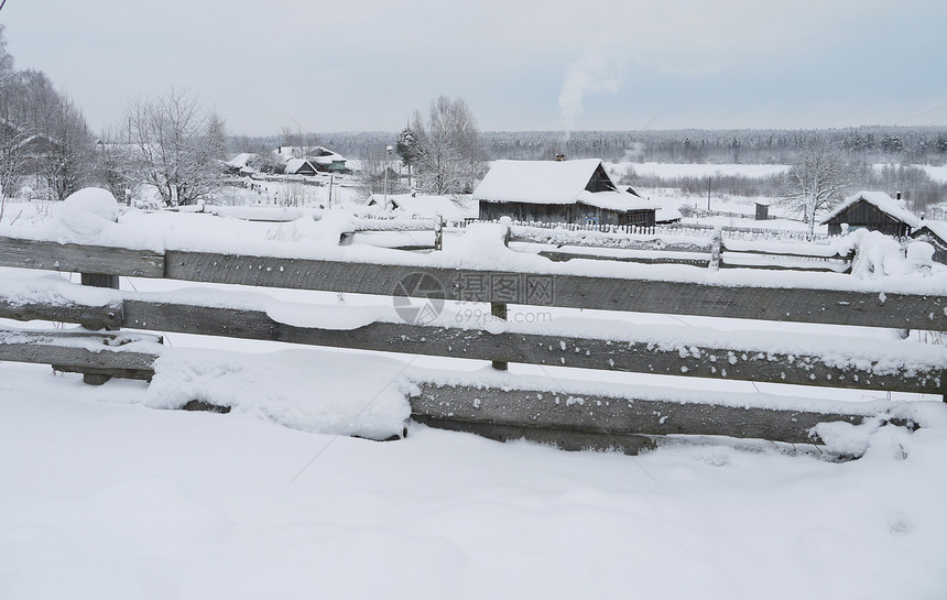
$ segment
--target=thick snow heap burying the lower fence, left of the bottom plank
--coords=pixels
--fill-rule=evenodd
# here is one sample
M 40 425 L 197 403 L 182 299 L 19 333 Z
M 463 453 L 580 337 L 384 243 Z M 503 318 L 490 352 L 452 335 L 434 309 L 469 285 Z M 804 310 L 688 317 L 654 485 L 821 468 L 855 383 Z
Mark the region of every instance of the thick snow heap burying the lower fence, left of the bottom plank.
M 145 404 L 193 400 L 306 432 L 384 439 L 411 414 L 404 363 L 384 357 L 286 350 L 241 354 L 175 349 L 154 363 Z

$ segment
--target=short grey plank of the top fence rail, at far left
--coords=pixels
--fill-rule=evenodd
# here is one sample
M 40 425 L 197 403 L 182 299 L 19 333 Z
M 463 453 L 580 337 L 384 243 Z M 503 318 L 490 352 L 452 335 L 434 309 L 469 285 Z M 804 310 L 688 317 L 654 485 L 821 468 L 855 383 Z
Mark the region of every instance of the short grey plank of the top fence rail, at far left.
M 162 277 L 164 276 L 164 255 L 150 250 L 0 237 L 0 266 L 129 277 Z

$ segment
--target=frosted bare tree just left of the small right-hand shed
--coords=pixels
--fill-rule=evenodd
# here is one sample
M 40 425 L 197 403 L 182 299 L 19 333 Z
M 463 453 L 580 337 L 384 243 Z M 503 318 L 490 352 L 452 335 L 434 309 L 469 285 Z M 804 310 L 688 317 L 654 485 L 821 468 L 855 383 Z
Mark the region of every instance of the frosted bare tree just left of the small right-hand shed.
M 799 153 L 786 174 L 786 205 L 803 215 L 815 231 L 816 211 L 830 208 L 845 198 L 851 186 L 850 165 L 828 144 L 814 142 Z

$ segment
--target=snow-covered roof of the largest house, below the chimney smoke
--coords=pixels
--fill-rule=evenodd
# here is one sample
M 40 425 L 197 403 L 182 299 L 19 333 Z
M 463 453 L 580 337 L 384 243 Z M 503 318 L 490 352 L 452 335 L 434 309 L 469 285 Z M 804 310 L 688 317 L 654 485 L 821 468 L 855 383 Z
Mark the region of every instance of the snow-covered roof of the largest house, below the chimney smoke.
M 619 192 L 608 173 L 605 173 L 605 176 L 614 190 L 587 192 L 586 186 L 596 170 L 601 166 L 602 163 L 598 159 L 562 162 L 496 161 L 474 190 L 474 199 L 532 204 L 581 203 L 610 210 L 653 208 L 650 203 L 632 194 Z

